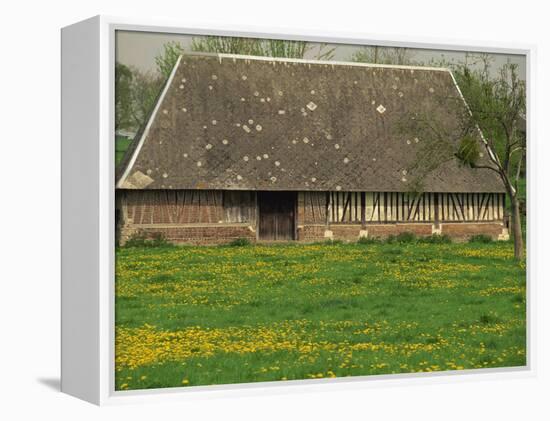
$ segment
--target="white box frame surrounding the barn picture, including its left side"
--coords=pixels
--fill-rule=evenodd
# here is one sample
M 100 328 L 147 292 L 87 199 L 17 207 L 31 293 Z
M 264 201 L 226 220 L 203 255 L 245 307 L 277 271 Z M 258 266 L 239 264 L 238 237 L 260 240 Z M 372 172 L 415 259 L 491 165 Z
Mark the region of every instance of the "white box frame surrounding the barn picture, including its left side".
M 295 29 L 214 26 L 153 19 L 96 16 L 67 26 L 62 41 L 62 377 L 63 392 L 94 404 L 114 404 L 210 396 L 295 393 L 373 387 L 410 382 L 438 382 L 532 376 L 534 285 L 527 270 L 527 366 L 476 369 L 462 372 L 360 376 L 220 386 L 197 386 L 142 391 L 114 388 L 114 63 L 115 32 L 148 31 L 191 35 L 231 35 L 400 46 L 457 51 L 524 54 L 527 60 L 527 101 L 532 104 L 531 45 L 463 44 L 452 40 L 378 37 L 354 33 L 313 32 Z M 534 154 L 527 115 L 528 172 Z M 528 176 L 529 177 L 529 176 Z M 533 221 L 529 207 L 530 221 Z M 530 237 L 528 237 L 530 239 Z M 529 240 L 530 241 L 530 240 Z M 529 251 L 529 244 L 528 244 Z M 376 380 L 376 381 L 374 381 Z

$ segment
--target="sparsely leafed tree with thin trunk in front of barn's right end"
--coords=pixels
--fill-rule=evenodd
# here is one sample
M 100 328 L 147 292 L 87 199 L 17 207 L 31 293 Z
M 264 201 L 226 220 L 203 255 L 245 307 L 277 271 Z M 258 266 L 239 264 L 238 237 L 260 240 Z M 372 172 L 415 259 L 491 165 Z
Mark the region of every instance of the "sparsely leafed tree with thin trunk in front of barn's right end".
M 431 171 L 453 159 L 498 174 L 511 204 L 514 256 L 521 259 L 524 249 L 518 184 L 526 139 L 519 127 L 525 115 L 525 82 L 520 80 L 515 64 L 502 66 L 496 78 L 490 77 L 489 67 L 472 70 L 465 63 L 455 66 L 454 75 L 464 98 L 434 95 L 422 113 L 408 115 L 398 130 L 413 130 L 424 139 L 409 169 L 415 174 L 416 188 L 421 189 L 423 178 Z M 455 119 L 451 123 L 450 115 Z

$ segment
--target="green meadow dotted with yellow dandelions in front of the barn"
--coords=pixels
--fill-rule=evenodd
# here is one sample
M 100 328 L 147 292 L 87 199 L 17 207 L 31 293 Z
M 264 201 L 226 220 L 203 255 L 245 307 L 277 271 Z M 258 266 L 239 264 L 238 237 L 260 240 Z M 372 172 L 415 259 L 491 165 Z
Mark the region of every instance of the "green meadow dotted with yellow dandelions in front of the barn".
M 117 250 L 116 388 L 522 366 L 510 242 Z

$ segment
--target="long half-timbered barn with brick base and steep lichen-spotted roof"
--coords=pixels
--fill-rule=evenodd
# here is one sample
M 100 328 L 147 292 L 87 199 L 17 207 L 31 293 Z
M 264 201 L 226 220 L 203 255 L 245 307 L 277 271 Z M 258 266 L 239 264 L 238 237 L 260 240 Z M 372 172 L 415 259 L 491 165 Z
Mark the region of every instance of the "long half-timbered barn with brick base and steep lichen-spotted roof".
M 433 145 L 403 125 L 458 130 L 441 98 L 467 110 L 442 68 L 181 56 L 117 171 L 119 241 L 507 239 L 498 175 L 452 156 L 428 165 Z

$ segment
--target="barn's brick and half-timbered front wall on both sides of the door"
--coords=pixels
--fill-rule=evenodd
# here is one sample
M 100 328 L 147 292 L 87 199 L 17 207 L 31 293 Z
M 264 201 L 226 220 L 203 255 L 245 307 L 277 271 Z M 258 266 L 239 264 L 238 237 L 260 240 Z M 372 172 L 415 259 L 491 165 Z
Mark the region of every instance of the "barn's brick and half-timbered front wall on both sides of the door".
M 357 240 L 401 232 L 508 237 L 503 193 L 298 192 L 296 239 Z M 220 244 L 257 240 L 258 203 L 252 191 L 117 190 L 121 244 L 135 235 Z

